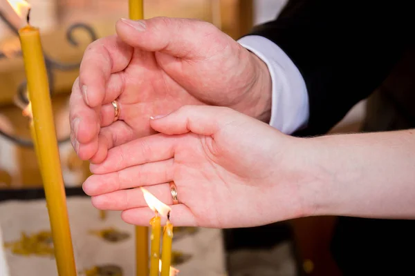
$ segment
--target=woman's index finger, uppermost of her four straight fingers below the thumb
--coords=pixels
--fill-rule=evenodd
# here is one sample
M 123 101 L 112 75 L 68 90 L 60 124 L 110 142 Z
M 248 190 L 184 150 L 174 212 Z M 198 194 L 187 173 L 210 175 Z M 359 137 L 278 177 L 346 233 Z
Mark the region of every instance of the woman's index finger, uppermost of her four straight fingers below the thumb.
M 111 135 L 113 134 L 116 132 L 111 130 Z M 100 164 L 91 164 L 91 172 L 104 174 L 130 166 L 170 159 L 174 157 L 176 139 L 174 136 L 156 134 L 122 144 L 125 141 L 113 137 L 112 140 L 109 139 L 109 143 L 112 141 L 116 147 L 109 146 L 111 150 L 108 151 L 107 158 Z

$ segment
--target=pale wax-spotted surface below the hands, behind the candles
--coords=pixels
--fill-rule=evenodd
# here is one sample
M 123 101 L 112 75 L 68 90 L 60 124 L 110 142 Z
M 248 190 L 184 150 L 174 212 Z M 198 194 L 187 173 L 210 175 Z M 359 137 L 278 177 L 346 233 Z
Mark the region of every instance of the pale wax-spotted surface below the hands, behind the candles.
M 102 221 L 89 197 L 68 197 L 67 204 L 77 271 L 97 265 L 115 264 L 122 267 L 124 276 L 135 275 L 134 226 L 122 221 L 118 211 L 107 212 L 107 218 Z M 3 242 L 20 239 L 22 231 L 32 234 L 49 230 L 46 201 L 0 202 L 0 226 L 3 229 Z M 89 233 L 90 230 L 109 227 L 128 232 L 129 239 L 111 243 Z M 174 266 L 180 270 L 179 275 L 225 275 L 221 235 L 219 229 L 201 228 L 194 235 L 174 240 L 172 250 L 192 255 L 187 262 Z M 8 248 L 5 253 L 10 276 L 57 275 L 55 259 L 14 255 Z

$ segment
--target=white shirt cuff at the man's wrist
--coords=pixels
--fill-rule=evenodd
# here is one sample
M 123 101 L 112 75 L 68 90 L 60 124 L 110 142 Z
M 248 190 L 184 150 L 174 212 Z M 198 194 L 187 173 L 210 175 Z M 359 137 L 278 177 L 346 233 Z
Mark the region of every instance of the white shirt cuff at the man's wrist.
M 306 83 L 293 61 L 265 37 L 250 35 L 238 42 L 264 61 L 270 71 L 273 83 L 270 126 L 287 135 L 304 128 L 309 116 L 308 94 Z

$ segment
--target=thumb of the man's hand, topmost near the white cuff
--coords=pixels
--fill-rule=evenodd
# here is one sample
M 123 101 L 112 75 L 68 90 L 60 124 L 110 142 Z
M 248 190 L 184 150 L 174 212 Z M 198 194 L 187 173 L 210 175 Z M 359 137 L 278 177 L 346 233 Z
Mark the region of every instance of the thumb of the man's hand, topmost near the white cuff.
M 116 23 L 116 31 L 118 37 L 130 46 L 188 59 L 210 55 L 209 50 L 214 49 L 203 50 L 201 46 L 212 43 L 212 37 L 216 49 L 225 46 L 230 39 L 208 22 L 169 17 L 138 21 L 120 19 Z

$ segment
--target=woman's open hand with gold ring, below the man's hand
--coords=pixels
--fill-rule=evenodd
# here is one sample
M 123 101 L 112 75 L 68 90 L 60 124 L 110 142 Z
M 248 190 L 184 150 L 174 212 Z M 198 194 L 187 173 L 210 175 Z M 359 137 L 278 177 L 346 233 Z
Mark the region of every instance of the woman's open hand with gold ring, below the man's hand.
M 83 188 L 96 208 L 123 210 L 124 221 L 147 226 L 154 213 L 138 187 L 172 205 L 174 181 L 175 226 L 258 226 L 304 213 L 292 160 L 297 138 L 211 106 L 185 106 L 150 124 L 160 134 L 112 148 L 91 166 Z

